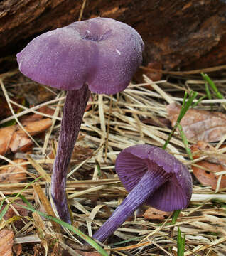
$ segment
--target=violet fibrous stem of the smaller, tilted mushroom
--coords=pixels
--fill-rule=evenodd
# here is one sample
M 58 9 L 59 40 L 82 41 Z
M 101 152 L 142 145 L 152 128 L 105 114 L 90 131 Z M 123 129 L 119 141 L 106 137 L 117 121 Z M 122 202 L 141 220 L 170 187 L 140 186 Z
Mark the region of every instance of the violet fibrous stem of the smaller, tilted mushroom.
M 134 211 L 151 196 L 156 189 L 166 183 L 171 174 L 159 168 L 156 171 L 146 171 L 139 183 L 129 192 L 124 201 L 114 210 L 111 217 L 97 230 L 92 238 L 103 242 L 124 223 Z

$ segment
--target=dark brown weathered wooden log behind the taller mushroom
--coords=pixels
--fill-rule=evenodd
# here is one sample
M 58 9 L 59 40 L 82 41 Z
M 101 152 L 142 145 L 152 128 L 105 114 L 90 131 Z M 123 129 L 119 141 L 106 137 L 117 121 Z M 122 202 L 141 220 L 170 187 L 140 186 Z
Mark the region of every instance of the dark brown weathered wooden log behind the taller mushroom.
M 45 31 L 77 21 L 82 0 L 1 0 L 0 57 L 23 48 Z M 165 69 L 225 63 L 226 4 L 223 0 L 87 0 L 82 19 L 115 18 L 141 33 L 144 62 Z

